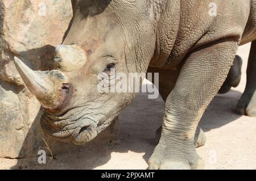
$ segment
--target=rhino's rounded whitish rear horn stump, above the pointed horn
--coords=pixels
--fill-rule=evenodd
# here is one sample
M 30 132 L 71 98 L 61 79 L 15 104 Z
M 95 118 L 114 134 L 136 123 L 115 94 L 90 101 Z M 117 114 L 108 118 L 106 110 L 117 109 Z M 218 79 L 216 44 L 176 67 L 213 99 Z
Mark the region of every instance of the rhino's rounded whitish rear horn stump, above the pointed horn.
M 86 54 L 78 45 L 58 45 L 54 61 L 55 69 L 74 71 L 85 65 Z

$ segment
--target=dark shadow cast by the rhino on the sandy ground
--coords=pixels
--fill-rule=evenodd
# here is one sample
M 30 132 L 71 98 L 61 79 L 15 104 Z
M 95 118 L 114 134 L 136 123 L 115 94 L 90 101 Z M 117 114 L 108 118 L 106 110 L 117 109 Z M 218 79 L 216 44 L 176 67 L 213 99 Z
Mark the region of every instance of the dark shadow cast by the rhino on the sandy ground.
M 217 95 L 201 120 L 201 128 L 207 132 L 237 120 L 240 115 L 237 115 L 235 108 L 240 96 L 241 92 L 238 91 Z M 163 109 L 164 102 L 162 99 L 150 100 L 147 98 L 147 94 L 139 94 L 130 106 L 119 115 L 120 133 L 118 144 L 101 140 L 90 142 L 81 146 L 81 149 L 77 151 L 71 151 L 72 154 L 56 155 L 55 159 L 48 164 L 40 165 L 37 157 L 19 159 L 12 169 L 102 168 L 102 166 L 110 162 L 113 153 L 127 153 L 128 151 L 141 153 L 146 164 L 155 147 L 155 131 L 161 125 Z M 36 124 L 33 124 L 31 129 L 35 129 L 33 128 L 34 125 Z M 30 137 L 30 135 L 27 137 Z M 24 146 L 26 146 L 26 143 L 24 143 Z M 119 157 L 122 158 L 123 155 L 119 154 Z M 121 160 L 129 162 L 129 158 L 122 158 Z M 112 162 L 115 166 L 118 165 L 118 163 Z M 108 167 L 108 169 L 112 168 Z

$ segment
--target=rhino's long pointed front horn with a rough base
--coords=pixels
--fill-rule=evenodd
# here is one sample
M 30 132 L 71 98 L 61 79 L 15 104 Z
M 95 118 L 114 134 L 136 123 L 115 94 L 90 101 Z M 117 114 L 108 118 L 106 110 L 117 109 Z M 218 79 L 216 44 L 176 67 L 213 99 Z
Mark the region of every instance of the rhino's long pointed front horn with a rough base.
M 27 89 L 32 92 L 44 108 L 56 109 L 63 104 L 67 91 L 68 78 L 58 70 L 34 71 L 24 64 L 19 58 L 14 57 L 14 63 L 20 77 L 22 77 Z

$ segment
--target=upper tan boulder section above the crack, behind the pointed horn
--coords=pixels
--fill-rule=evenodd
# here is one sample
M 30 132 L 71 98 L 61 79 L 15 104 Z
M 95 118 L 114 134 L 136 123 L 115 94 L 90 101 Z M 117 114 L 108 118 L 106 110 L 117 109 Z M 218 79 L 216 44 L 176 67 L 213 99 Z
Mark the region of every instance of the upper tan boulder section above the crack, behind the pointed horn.
M 33 69 L 51 69 L 54 47 L 72 18 L 71 2 L 1 0 L 0 9 L 0 78 L 22 85 L 13 56 L 22 56 Z

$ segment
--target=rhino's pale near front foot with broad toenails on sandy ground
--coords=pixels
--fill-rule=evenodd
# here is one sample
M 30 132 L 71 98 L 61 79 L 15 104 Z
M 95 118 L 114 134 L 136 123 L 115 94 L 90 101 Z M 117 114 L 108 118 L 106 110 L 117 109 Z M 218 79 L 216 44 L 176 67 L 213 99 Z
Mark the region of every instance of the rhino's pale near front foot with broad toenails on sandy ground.
M 195 170 L 203 169 L 204 161 L 196 153 L 193 141 L 180 145 L 178 142 L 160 140 L 148 160 L 150 170 Z

